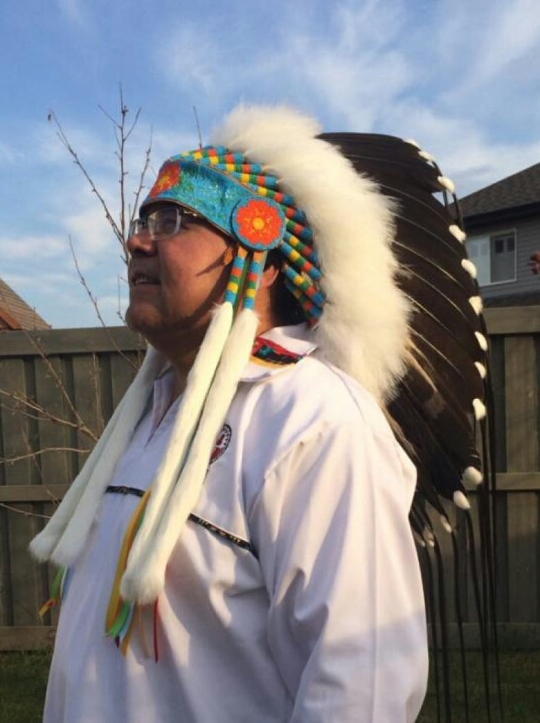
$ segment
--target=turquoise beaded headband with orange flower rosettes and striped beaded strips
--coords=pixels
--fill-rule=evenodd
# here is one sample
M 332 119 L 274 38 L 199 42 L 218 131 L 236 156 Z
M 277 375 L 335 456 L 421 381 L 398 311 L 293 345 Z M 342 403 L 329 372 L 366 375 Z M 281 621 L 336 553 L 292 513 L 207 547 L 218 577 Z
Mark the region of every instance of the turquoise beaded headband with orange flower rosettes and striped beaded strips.
M 279 249 L 285 258 L 286 288 L 307 320 L 318 320 L 325 296 L 319 288 L 317 254 L 309 245 L 312 230 L 293 197 L 278 190 L 278 179 L 265 166 L 249 163 L 242 153 L 229 153 L 223 146 L 174 155 L 161 166 L 141 210 L 158 201 L 186 206 L 238 241 L 225 301 L 236 304 L 243 291 L 243 307 L 252 309 L 266 254 Z

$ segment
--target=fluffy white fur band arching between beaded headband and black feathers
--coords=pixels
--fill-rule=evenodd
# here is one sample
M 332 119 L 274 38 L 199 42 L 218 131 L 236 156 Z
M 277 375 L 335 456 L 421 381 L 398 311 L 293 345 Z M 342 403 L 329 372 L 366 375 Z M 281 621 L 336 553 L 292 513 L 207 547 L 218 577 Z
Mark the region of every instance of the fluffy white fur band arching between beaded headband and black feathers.
M 403 375 L 409 315 L 390 249 L 394 205 L 317 131 L 286 107 L 239 106 L 213 141 L 264 163 L 306 213 L 327 296 L 318 342 L 328 361 L 383 401 Z

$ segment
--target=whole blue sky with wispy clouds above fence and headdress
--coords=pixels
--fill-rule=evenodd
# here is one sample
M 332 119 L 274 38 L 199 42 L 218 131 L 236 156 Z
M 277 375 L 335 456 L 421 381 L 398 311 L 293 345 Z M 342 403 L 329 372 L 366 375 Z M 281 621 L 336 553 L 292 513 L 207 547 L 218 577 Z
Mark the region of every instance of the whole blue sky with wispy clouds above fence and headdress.
M 95 326 L 69 238 L 108 323 L 119 247 L 47 121 L 51 109 L 111 208 L 121 82 L 150 132 L 150 180 L 240 100 L 286 102 L 325 130 L 413 137 L 458 194 L 540 161 L 536 0 L 7 0 L 0 46 L 0 275 L 54 327 Z M 152 130 L 151 130 L 152 129 Z M 129 196 L 131 197 L 131 196 Z

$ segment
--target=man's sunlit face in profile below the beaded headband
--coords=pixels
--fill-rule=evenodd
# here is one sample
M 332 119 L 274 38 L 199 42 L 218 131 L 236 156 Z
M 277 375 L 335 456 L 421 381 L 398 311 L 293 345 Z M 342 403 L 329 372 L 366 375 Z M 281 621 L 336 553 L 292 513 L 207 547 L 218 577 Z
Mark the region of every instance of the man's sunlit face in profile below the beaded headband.
M 159 208 L 167 206 L 171 205 Z M 163 335 L 206 328 L 228 281 L 230 246 L 225 234 L 200 218 L 183 216 L 178 233 L 156 240 L 143 232 L 132 236 L 127 246 L 129 327 L 152 343 Z

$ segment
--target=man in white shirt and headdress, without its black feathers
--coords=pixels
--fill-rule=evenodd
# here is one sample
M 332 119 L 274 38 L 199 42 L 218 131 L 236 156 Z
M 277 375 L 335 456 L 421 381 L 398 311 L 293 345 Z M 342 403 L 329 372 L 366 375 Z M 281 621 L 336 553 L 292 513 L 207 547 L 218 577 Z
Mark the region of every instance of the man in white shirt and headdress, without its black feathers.
M 411 314 L 394 207 L 316 133 L 238 108 L 142 204 L 150 350 L 33 542 L 69 568 L 46 722 L 419 714 L 415 471 L 381 409 Z

